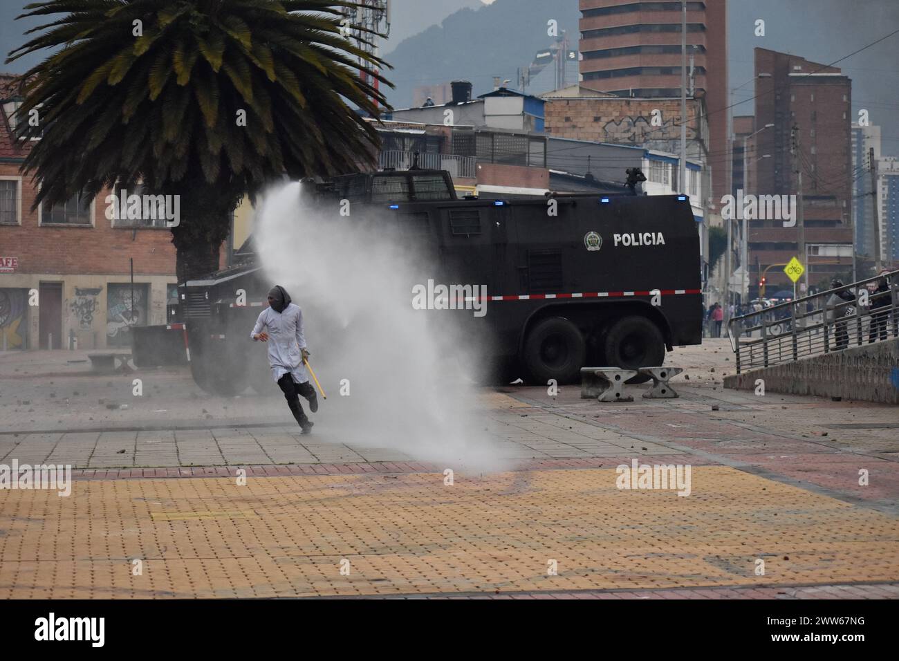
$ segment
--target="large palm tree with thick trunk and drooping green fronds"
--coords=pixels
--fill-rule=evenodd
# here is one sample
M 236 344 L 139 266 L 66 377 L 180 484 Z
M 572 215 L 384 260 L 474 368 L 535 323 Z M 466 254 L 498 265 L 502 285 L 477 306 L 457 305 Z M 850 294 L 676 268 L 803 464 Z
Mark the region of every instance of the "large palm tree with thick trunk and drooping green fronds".
M 360 71 L 390 84 L 374 70 L 385 63 L 341 34 L 343 13 L 356 4 L 27 5 L 22 17 L 65 14 L 31 30 L 40 34 L 6 60 L 58 49 L 22 76 L 19 112 L 40 117 L 38 127 L 19 122 L 22 137 L 41 136 L 22 165 L 40 184 L 35 208 L 140 181 L 145 192 L 180 195 L 178 280 L 217 270 L 245 193 L 284 174 L 343 174 L 374 160 L 378 134 L 362 114 L 377 117 L 386 102 Z

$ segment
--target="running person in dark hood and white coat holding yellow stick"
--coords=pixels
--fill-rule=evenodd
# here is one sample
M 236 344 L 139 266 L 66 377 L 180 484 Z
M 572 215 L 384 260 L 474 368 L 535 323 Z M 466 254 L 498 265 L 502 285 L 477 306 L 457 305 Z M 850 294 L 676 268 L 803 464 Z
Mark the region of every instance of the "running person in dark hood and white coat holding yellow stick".
M 268 332 L 263 331 L 267 328 Z M 309 410 L 318 410 L 316 389 L 309 384 L 303 361 L 309 355 L 306 337 L 303 335 L 303 311 L 290 302 L 290 295 L 280 285 L 269 291 L 269 307 L 263 309 L 250 334 L 254 342 L 269 343 L 271 375 L 284 393 L 290 413 L 303 430 L 312 431 L 312 422 L 303 412 L 299 395 L 306 397 Z M 271 340 L 271 342 L 269 342 Z

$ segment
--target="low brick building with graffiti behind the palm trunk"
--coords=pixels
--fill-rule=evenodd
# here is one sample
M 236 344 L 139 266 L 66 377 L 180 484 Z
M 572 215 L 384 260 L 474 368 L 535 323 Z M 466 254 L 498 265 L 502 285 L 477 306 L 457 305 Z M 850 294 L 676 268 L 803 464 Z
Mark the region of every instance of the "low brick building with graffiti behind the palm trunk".
M 14 77 L 0 76 L 0 350 L 129 345 L 129 326 L 165 324 L 171 232 L 107 219 L 107 192 L 32 211 L 35 184 L 19 171 L 31 144 L 13 136 L 21 102 Z

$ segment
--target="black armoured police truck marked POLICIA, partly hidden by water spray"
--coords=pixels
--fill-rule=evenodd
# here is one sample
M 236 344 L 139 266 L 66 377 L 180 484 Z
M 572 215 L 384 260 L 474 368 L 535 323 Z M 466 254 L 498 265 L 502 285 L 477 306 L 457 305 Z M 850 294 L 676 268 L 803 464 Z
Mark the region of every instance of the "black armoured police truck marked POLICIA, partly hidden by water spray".
M 437 170 L 344 175 L 317 184 L 316 196 L 335 208 L 351 201 L 354 220 L 400 228 L 426 258 L 419 282 L 485 285 L 489 314 L 459 314 L 493 380 L 565 383 L 585 365 L 658 366 L 666 347 L 701 341 L 699 235 L 686 196 L 558 194 L 550 215 L 539 198 L 459 200 Z M 241 364 L 260 310 L 233 301 L 236 289 L 264 301 L 270 286 L 253 258 L 179 285 L 200 387 L 266 387 L 269 374 Z

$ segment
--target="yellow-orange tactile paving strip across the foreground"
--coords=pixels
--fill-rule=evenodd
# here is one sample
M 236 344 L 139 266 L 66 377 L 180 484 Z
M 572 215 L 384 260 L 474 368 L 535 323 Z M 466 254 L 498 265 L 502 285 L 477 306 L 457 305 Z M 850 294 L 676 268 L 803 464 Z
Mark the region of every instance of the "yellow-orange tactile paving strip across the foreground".
M 227 597 L 899 577 L 891 516 L 723 467 L 692 495 L 614 469 L 76 482 L 0 492 L 0 597 Z M 134 558 L 143 563 L 134 576 Z M 341 560 L 349 560 L 342 576 Z M 756 558 L 765 576 L 755 576 Z M 557 576 L 547 576 L 550 560 Z M 346 563 L 343 564 L 346 568 Z

